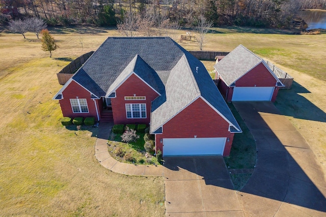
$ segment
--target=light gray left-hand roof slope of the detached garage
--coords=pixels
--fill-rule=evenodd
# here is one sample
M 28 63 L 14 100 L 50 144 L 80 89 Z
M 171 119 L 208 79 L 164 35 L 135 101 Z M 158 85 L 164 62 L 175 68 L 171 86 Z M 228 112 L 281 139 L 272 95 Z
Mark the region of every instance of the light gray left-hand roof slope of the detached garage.
M 243 45 L 237 46 L 225 58 L 214 65 L 227 86 L 254 68 L 263 60 Z

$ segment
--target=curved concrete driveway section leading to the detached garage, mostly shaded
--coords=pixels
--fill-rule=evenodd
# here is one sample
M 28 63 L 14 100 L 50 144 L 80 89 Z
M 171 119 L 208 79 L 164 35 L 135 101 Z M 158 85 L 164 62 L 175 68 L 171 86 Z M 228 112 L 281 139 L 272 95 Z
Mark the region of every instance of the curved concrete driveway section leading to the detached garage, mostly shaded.
M 250 216 L 325 216 L 326 185 L 310 146 L 271 102 L 234 102 L 257 145 L 256 168 L 238 192 Z

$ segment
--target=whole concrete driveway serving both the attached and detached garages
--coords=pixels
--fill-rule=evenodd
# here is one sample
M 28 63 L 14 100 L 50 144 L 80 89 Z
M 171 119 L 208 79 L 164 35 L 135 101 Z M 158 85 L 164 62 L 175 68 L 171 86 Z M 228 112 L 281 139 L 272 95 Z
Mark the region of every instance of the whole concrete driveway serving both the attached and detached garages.
M 236 102 L 257 144 L 240 192 L 222 157 L 165 158 L 167 216 L 326 216 L 326 184 L 309 145 L 271 102 Z

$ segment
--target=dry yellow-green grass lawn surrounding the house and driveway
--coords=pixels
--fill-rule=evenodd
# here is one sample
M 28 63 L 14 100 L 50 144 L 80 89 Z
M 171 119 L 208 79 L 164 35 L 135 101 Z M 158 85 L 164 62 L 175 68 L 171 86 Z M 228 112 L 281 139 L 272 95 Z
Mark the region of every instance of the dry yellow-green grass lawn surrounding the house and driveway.
M 280 91 L 276 106 L 326 171 L 326 35 L 214 30 L 204 49 L 231 51 L 243 44 L 294 77 L 293 89 Z M 101 167 L 94 157 L 97 129 L 82 128 L 75 135 L 62 127 L 59 103 L 51 99 L 62 87 L 56 73 L 117 31 L 53 28 L 50 33 L 60 46 L 52 58 L 32 33 L 26 40 L 0 33 L 1 215 L 164 215 L 162 178 L 124 176 Z M 198 49 L 195 42 L 181 45 Z

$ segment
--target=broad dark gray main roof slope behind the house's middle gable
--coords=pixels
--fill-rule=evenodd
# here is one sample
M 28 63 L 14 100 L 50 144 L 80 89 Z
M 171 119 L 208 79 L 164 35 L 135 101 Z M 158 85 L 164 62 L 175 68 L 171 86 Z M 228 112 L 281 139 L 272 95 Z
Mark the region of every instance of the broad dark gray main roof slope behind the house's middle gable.
M 105 96 L 108 88 L 136 55 L 156 72 L 169 72 L 183 55 L 171 41 L 167 37 L 109 37 L 73 79 L 100 97 Z

